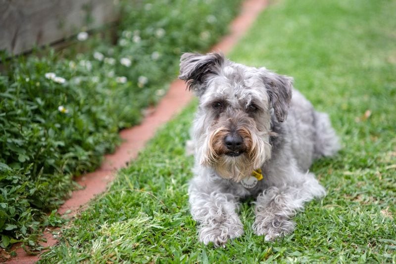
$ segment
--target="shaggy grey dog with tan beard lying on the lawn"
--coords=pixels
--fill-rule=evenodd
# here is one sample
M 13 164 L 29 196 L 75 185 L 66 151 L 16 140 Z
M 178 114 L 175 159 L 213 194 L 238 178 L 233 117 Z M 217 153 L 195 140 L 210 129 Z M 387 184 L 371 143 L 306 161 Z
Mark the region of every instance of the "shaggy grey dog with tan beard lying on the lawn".
M 222 53 L 184 53 L 179 79 L 199 99 L 188 190 L 199 240 L 219 247 L 240 237 L 237 210 L 249 197 L 255 198 L 255 234 L 271 241 L 291 233 L 291 217 L 326 195 L 308 169 L 340 149 L 328 115 L 293 88 L 293 78 Z

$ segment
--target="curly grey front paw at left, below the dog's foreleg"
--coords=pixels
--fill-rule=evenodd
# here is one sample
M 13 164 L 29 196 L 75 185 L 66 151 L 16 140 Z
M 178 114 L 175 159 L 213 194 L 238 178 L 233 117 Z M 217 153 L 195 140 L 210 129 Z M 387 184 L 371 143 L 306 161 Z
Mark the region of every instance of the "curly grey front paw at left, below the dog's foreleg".
M 199 240 L 205 245 L 213 242 L 214 246 L 225 246 L 229 239 L 234 239 L 244 233 L 241 221 L 237 223 L 215 223 L 202 226 L 199 230 Z

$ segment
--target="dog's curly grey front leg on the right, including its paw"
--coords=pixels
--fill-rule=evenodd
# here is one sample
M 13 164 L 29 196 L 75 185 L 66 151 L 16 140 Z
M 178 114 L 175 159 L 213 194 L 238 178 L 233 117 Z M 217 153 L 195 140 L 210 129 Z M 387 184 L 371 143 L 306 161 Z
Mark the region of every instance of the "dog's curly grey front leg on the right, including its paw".
M 293 232 L 296 223 L 290 218 L 305 202 L 326 194 L 312 173 L 299 174 L 297 182 L 269 187 L 257 197 L 253 229 L 257 235 L 265 235 L 266 241 Z

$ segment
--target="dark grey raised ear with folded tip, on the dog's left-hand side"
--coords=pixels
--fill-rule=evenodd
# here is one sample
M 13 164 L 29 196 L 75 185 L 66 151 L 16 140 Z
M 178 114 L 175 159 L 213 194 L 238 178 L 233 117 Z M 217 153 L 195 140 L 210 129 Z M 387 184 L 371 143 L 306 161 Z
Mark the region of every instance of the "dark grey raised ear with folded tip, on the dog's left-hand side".
M 205 77 L 215 74 L 224 60 L 222 53 L 184 53 L 180 58 L 179 79 L 186 81 L 189 90 L 200 96 L 205 91 Z

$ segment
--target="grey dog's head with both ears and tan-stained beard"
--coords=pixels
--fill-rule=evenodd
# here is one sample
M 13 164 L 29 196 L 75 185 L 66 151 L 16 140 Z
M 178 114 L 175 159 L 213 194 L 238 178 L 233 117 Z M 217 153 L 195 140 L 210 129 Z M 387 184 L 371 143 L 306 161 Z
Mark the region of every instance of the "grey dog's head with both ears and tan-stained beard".
M 196 155 L 223 178 L 239 182 L 271 156 L 271 112 L 283 122 L 292 78 L 248 67 L 221 53 L 184 53 L 179 78 L 199 98 Z

